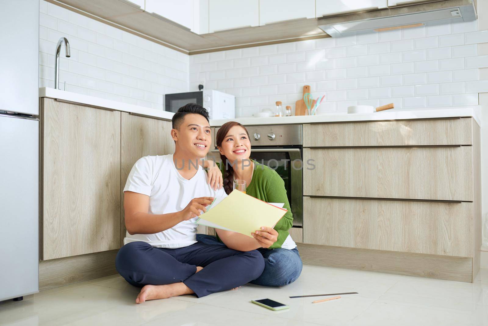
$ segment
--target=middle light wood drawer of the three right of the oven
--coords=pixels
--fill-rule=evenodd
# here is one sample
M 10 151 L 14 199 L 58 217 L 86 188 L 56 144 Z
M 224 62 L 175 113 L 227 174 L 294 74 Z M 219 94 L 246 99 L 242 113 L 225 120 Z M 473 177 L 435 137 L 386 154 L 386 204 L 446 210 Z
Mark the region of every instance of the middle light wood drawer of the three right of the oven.
M 472 146 L 305 148 L 310 159 L 305 196 L 473 200 Z

